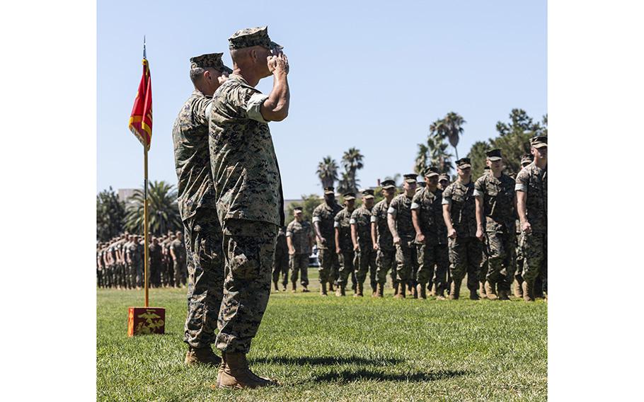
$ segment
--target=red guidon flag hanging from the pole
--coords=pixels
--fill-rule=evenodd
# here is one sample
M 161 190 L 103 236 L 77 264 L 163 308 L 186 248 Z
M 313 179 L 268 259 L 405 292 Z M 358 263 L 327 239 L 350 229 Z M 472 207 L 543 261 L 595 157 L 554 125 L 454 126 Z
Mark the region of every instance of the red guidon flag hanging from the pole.
M 143 57 L 143 76 L 139 84 L 137 97 L 134 98 L 134 107 L 130 115 L 130 131 L 137 136 L 146 149 L 150 149 L 152 138 L 152 79 L 148 61 Z

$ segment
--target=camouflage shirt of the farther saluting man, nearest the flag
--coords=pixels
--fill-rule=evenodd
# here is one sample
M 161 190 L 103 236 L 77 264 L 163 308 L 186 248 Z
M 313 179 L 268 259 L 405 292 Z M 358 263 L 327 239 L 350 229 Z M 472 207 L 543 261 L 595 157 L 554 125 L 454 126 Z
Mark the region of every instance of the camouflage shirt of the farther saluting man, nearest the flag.
M 192 92 L 172 127 L 177 172 L 177 204 L 182 220 L 192 217 L 197 208 L 216 207 L 210 174 L 207 109 L 210 96 Z

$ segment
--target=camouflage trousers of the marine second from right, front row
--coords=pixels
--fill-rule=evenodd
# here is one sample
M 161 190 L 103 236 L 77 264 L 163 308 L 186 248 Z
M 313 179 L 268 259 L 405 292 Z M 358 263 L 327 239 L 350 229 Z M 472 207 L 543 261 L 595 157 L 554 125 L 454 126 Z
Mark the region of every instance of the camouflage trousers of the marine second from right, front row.
M 517 239 L 514 231 L 505 234 L 488 232 L 485 234 L 488 272 L 485 280 L 497 284 L 499 290 L 510 290 L 514 282 L 514 248 Z

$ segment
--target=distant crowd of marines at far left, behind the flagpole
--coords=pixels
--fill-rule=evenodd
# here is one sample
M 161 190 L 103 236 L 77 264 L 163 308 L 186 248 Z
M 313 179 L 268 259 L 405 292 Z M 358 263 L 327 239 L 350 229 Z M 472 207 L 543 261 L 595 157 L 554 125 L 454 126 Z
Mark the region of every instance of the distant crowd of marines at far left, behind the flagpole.
M 149 244 L 149 285 L 185 287 L 188 270 L 181 231 L 151 236 Z M 96 246 L 98 287 L 141 289 L 144 281 L 143 236 L 124 233 Z

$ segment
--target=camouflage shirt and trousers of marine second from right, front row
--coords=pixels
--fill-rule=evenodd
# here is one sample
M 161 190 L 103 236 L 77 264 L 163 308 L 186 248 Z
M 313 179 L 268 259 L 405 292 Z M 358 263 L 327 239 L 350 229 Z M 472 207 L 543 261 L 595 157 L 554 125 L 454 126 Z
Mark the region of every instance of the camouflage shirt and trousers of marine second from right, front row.
M 510 290 L 514 281 L 515 236 L 514 180 L 504 173 L 495 178 L 484 174 L 474 183 L 474 196 L 481 197 L 485 217 L 485 280 L 499 290 Z

